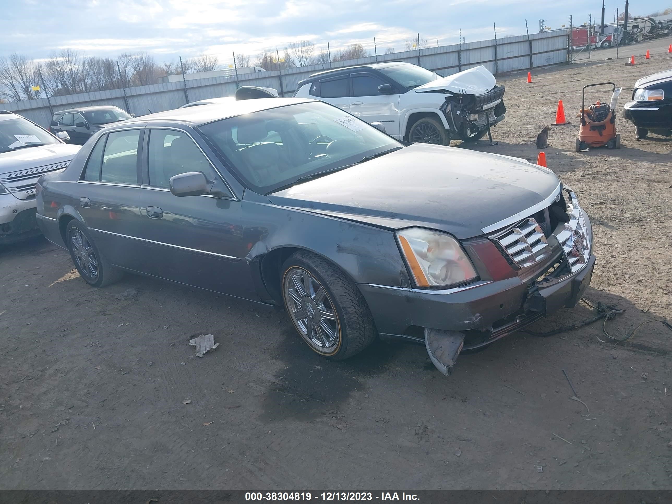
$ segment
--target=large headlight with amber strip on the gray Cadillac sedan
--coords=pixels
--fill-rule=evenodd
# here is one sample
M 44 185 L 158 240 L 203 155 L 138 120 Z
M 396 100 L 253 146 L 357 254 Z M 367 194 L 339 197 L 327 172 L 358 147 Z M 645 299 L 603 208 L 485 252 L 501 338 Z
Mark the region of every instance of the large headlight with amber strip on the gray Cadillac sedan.
M 449 287 L 478 278 L 471 261 L 452 236 L 408 228 L 396 233 L 396 237 L 417 286 Z

